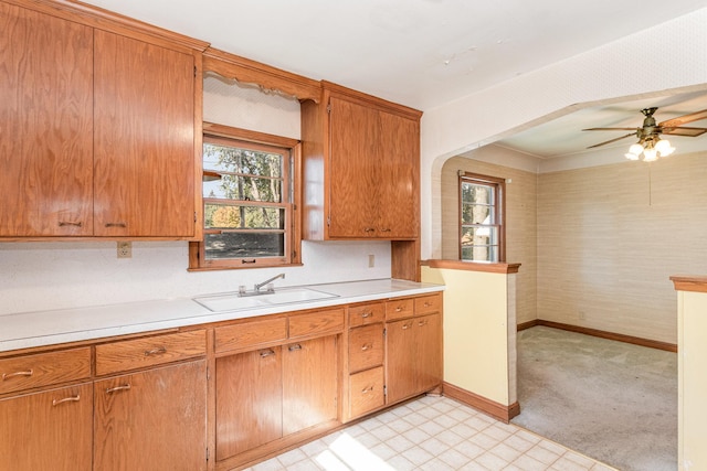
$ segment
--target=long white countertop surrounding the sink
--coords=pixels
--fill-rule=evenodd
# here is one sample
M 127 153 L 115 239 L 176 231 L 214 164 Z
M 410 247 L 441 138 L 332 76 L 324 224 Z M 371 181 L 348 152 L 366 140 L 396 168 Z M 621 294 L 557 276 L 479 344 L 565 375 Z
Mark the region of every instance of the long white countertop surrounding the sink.
M 309 285 L 302 288 L 316 289 L 336 295 L 336 297 L 229 312 L 212 312 L 192 298 L 173 298 L 3 314 L 0 315 L 0 352 L 377 299 L 432 293 L 442 291 L 444 286 L 398 279 L 379 279 Z

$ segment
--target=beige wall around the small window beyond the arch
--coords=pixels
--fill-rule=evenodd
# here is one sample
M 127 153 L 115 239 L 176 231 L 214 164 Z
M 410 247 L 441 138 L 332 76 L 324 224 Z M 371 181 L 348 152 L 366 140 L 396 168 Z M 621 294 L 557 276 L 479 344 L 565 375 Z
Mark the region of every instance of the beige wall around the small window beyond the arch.
M 493 152 L 507 153 L 509 151 L 488 147 L 475 152 L 493 154 Z M 536 194 L 538 176 L 531 172 L 465 157 L 454 157 L 447 160 L 442 168 L 442 258 L 445 259 L 458 259 L 460 170 L 511 180 L 506 183 L 506 261 L 521 264 L 516 276 L 518 323 L 537 319 Z

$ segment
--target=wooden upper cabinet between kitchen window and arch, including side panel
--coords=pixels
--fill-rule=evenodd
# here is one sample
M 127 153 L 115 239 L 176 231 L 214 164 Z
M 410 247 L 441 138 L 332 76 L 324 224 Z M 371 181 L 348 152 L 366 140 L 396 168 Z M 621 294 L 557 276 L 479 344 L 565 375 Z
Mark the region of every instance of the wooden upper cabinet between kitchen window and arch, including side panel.
M 323 87 L 302 105 L 304 237 L 418 238 L 421 113 Z

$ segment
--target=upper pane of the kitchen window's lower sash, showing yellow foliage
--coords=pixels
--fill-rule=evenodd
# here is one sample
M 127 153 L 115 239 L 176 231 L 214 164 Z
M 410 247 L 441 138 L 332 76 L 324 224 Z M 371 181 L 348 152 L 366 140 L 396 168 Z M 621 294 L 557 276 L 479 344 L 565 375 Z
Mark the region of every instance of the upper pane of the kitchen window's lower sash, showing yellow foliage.
M 285 227 L 285 208 L 205 203 L 204 227 L 208 229 L 282 229 Z

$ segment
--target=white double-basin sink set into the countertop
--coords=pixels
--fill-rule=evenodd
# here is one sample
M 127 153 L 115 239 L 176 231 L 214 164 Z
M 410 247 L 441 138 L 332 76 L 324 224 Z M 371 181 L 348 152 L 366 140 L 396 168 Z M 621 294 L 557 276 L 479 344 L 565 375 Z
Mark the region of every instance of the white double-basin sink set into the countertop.
M 239 296 L 238 292 L 224 292 L 220 295 L 198 296 L 192 299 L 212 312 L 229 312 L 267 308 L 268 306 L 317 301 L 327 298 L 338 298 L 338 295 L 317 291 L 310 288 L 282 288 L 274 292 L 265 292 L 258 296 L 242 297 Z

